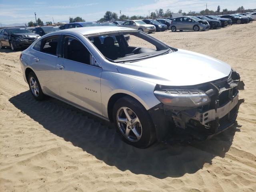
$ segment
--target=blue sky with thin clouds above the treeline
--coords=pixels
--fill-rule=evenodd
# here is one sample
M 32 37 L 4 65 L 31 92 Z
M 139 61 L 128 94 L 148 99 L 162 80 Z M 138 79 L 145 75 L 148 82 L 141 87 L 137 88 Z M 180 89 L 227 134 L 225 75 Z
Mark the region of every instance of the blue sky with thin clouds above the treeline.
M 169 8 L 172 12 L 182 9 L 184 12 L 200 11 L 206 8 L 216 10 L 236 10 L 239 6 L 256 8 L 256 0 L 0 0 L 0 22 L 2 24 L 24 23 L 34 21 L 36 17 L 54 22 L 68 21 L 69 17 L 81 16 L 86 21 L 100 19 L 107 10 L 125 15 L 147 16 L 155 9 Z

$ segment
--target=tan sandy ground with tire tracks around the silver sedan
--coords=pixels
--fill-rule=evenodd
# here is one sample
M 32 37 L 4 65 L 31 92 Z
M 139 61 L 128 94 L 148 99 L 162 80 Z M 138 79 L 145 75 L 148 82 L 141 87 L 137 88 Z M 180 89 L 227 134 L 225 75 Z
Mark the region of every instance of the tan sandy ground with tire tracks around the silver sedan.
M 157 32 L 241 75 L 237 123 L 200 144 L 137 149 L 111 124 L 49 98 L 35 101 L 19 54 L 0 50 L 0 191 L 256 191 L 256 21 L 202 32 Z M 182 75 L 182 74 L 181 74 Z

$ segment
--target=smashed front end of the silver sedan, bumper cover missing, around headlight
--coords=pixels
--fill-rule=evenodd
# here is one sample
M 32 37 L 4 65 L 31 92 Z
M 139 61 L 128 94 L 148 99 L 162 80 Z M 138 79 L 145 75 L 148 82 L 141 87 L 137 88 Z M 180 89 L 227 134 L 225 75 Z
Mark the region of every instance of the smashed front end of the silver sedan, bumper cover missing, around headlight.
M 232 70 L 228 77 L 196 86 L 157 85 L 157 92 L 169 93 L 170 90 L 172 92 L 173 90 L 189 90 L 188 92 L 191 94 L 194 94 L 193 92 L 198 92 L 197 95 L 205 94 L 205 97 L 202 96 L 205 103 L 202 102 L 203 104 L 198 107 L 182 106 L 182 104 L 171 106 L 161 102 L 150 109 L 149 112 L 156 126 L 158 140 L 164 140 L 172 125 L 191 132 L 191 134 L 201 134 L 204 138 L 209 138 L 232 126 L 238 113 L 238 86 L 240 83 L 239 74 Z M 174 98 L 172 100 L 174 101 Z M 198 98 L 194 99 L 194 102 L 198 102 Z

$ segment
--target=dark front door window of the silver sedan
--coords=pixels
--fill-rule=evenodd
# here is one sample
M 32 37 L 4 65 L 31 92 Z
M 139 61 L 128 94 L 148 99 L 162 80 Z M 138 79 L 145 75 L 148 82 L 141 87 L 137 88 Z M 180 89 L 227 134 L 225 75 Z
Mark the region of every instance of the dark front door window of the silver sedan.
M 63 53 L 66 59 L 90 65 L 90 52 L 75 38 L 65 38 Z

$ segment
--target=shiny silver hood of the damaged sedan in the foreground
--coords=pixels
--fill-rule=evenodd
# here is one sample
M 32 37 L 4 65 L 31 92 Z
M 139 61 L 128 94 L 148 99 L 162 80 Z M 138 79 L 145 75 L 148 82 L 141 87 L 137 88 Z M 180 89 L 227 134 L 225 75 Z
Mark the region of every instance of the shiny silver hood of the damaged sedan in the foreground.
M 116 63 L 122 74 L 169 86 L 189 86 L 224 78 L 231 67 L 215 58 L 181 50 L 138 62 Z

